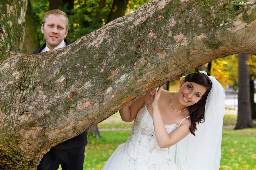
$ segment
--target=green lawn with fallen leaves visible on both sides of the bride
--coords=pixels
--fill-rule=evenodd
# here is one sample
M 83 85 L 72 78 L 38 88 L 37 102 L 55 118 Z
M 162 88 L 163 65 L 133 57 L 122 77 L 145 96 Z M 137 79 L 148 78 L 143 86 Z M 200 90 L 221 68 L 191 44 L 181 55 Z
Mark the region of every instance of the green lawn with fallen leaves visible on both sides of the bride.
M 226 109 L 224 126 L 235 125 L 237 111 Z M 255 120 L 254 120 L 255 122 Z M 119 113 L 98 124 L 99 128 L 132 128 L 123 122 Z M 131 131 L 100 131 L 101 139 L 88 137 L 85 148 L 84 169 L 100 170 L 118 145 L 124 143 Z M 222 133 L 221 170 L 256 170 L 256 128 L 233 130 L 224 128 Z M 61 167 L 59 168 L 61 169 Z

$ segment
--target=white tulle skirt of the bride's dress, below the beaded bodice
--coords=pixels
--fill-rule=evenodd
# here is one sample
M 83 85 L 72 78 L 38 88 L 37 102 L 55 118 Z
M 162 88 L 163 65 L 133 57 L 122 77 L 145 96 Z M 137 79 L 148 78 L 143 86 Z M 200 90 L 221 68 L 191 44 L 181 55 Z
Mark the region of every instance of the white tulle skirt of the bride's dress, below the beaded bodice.
M 102 170 L 179 170 L 177 165 L 170 159 L 155 158 L 151 162 L 142 162 L 134 159 L 123 152 L 123 145 L 119 145 L 105 163 Z

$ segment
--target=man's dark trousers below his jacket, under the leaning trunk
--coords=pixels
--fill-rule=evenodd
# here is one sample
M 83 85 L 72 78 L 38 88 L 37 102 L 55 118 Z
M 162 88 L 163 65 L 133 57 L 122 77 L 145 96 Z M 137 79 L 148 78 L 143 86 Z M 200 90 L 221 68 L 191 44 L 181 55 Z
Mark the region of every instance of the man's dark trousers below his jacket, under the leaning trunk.
M 51 148 L 40 160 L 37 170 L 57 170 L 59 164 L 63 170 L 82 170 L 85 146 L 76 149 Z

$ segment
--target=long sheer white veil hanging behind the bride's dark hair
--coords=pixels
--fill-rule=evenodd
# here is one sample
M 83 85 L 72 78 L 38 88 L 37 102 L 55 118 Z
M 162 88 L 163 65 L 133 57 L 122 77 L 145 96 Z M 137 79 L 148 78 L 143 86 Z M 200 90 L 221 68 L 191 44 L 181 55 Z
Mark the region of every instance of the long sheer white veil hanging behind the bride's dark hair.
M 200 71 L 207 75 L 205 71 Z M 221 136 L 225 111 L 225 90 L 213 76 L 205 105 L 205 122 L 199 123 L 195 135 L 189 133 L 169 148 L 169 154 L 179 170 L 218 170 Z

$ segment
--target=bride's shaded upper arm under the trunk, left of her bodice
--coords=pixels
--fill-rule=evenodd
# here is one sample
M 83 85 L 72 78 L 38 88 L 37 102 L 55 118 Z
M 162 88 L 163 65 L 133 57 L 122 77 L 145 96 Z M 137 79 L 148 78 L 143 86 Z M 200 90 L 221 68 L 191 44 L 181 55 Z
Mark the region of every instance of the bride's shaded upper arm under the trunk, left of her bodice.
M 125 122 L 132 122 L 135 119 L 139 109 L 141 109 L 144 105 L 146 105 L 148 101 L 149 101 L 149 94 L 146 93 L 145 95 L 143 95 L 142 97 L 140 97 L 139 99 L 131 103 L 130 105 L 124 107 L 123 109 L 120 109 L 119 113 L 122 120 Z

